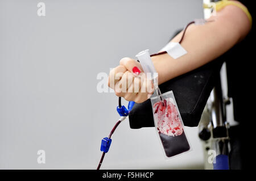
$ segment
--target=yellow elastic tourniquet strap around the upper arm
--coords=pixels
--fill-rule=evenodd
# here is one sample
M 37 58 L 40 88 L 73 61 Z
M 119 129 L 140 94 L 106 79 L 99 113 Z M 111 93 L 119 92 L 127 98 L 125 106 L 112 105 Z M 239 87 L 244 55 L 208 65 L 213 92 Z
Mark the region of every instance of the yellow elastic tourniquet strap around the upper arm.
M 245 12 L 245 14 L 247 15 L 248 19 L 250 20 L 250 23 L 253 23 L 253 18 L 251 18 L 251 14 L 248 11 L 248 9 L 241 5 L 240 3 L 237 3 L 236 1 L 228 1 L 228 0 L 222 0 L 222 1 L 218 1 L 216 2 L 216 11 L 220 11 L 222 8 L 224 8 L 227 5 L 234 5 L 239 7 L 241 10 L 243 10 L 243 12 Z

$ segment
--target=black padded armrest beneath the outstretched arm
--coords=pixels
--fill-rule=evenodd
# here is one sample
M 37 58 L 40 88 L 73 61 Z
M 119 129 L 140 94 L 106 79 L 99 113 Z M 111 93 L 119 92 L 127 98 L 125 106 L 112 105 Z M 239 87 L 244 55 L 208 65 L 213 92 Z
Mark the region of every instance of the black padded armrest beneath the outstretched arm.
M 185 126 L 196 127 L 199 124 L 210 92 L 220 74 L 222 63 L 220 57 L 159 86 L 162 93 L 170 90 L 174 92 Z M 140 104 L 135 103 L 133 110 L 129 113 L 129 122 L 132 129 L 154 127 L 150 99 Z

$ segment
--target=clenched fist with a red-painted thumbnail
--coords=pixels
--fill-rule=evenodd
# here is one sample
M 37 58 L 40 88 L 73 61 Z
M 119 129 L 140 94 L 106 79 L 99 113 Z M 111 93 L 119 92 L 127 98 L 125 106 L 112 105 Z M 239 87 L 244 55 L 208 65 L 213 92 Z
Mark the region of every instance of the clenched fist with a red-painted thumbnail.
M 132 58 L 122 58 L 109 73 L 108 85 L 115 95 L 128 101 L 142 103 L 154 93 L 154 85 L 142 71 L 142 66 Z

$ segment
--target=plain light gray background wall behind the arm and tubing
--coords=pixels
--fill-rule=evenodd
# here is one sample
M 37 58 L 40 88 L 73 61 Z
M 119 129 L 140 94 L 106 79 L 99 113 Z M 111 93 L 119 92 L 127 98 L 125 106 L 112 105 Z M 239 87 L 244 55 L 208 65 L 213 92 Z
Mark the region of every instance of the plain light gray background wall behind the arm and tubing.
M 38 2 L 0 0 L 0 169 L 96 169 L 101 138 L 119 117 L 114 93 L 97 92 L 97 74 L 158 51 L 203 18 L 203 2 L 42 1 L 45 17 Z M 203 168 L 197 128 L 185 130 L 193 150 L 165 161 L 155 129 L 125 120 L 102 169 Z M 46 164 L 37 163 L 40 149 Z

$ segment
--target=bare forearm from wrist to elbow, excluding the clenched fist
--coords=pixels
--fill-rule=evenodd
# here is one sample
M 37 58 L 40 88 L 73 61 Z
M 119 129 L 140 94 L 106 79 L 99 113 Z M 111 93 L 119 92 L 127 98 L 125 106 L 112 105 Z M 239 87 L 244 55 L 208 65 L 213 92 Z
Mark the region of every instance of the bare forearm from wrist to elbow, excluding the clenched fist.
M 192 24 L 188 27 L 181 43 L 188 52 L 184 56 L 176 60 L 167 53 L 152 57 L 159 74 L 159 84 L 221 56 L 250 31 L 249 19 L 236 6 L 226 6 L 210 20 L 214 21 L 199 26 Z M 181 34 L 182 32 L 171 41 L 179 42 Z

